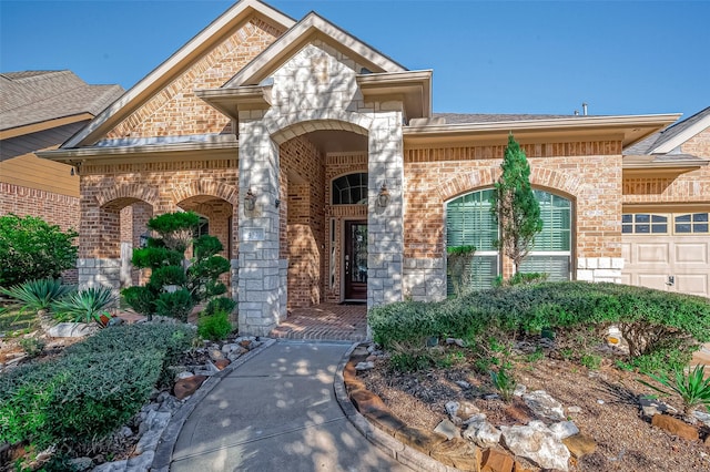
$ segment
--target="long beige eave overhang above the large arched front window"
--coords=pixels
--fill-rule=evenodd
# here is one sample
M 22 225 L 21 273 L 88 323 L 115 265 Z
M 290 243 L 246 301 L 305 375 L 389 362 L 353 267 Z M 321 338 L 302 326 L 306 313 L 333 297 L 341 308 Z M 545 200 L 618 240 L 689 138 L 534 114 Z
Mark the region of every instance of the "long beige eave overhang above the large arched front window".
M 570 116 L 569 119 L 507 122 L 425 124 L 404 127 L 409 146 L 470 144 L 490 145 L 507 141 L 513 133 L 524 144 L 579 140 L 615 140 L 629 146 L 668 126 L 679 114 Z

